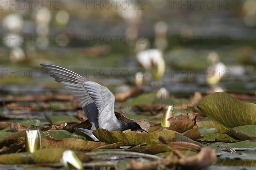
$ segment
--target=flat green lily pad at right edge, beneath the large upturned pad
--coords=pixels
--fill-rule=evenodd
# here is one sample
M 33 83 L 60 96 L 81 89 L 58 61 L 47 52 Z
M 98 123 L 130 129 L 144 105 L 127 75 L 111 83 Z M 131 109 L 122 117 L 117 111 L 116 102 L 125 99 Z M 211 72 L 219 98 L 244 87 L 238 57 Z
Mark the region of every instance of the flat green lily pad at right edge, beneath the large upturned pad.
M 230 129 L 230 131 L 241 140 L 250 140 L 256 137 L 256 125 L 238 126 Z

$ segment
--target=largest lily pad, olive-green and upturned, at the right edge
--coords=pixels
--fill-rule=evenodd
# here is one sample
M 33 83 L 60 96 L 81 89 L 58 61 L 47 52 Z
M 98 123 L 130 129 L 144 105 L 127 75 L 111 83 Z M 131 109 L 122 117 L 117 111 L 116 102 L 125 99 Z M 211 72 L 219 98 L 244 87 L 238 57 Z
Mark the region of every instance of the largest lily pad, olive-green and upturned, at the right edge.
M 227 130 L 242 125 L 256 125 L 256 105 L 242 102 L 224 92 L 209 94 L 197 107 Z

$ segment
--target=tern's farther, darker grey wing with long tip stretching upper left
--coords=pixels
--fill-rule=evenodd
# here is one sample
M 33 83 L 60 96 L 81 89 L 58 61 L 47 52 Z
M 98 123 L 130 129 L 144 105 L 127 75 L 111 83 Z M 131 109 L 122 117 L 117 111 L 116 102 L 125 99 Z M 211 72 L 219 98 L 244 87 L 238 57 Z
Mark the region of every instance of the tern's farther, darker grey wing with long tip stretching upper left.
M 98 125 L 98 109 L 94 104 L 93 99 L 88 94 L 87 90 L 83 87 L 82 83 L 90 81 L 79 74 L 69 71 L 65 68 L 51 64 L 41 64 L 47 70 L 49 75 L 57 82 L 64 85 L 64 87 L 76 98 L 81 107 L 92 124 L 91 130 L 99 128 Z

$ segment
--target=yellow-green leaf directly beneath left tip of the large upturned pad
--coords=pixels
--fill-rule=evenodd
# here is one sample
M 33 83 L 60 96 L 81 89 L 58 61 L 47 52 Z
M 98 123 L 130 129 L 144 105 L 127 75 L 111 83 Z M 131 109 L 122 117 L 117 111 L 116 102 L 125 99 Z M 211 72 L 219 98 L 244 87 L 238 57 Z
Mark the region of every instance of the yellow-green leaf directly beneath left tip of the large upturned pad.
M 197 121 L 196 125 L 198 125 L 199 129 L 200 127 L 206 127 L 207 129 L 215 128 L 216 133 L 224 133 L 227 134 L 230 131 L 225 129 L 224 127 L 221 127 L 217 123 L 213 122 L 212 120 L 205 120 L 205 121 Z M 200 131 L 200 130 L 199 130 Z

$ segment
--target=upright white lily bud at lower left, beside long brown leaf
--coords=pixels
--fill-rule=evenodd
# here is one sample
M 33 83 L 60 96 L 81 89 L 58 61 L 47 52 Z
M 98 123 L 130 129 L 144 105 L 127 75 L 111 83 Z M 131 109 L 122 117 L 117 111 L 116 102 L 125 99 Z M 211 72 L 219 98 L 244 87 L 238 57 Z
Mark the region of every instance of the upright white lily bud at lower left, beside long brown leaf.
M 33 153 L 42 149 L 41 134 L 39 130 L 26 130 L 26 151 Z

